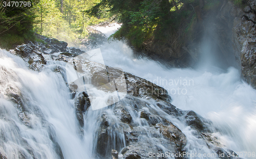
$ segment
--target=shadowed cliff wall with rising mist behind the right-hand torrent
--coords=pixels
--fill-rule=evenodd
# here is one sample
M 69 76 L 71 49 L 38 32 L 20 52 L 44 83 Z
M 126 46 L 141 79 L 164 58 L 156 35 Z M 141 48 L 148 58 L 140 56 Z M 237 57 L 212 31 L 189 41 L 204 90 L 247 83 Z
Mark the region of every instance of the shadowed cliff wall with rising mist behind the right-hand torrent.
M 191 17 L 189 24 L 182 24 L 188 25 L 190 31 L 183 31 L 182 35 L 187 34 L 189 38 L 177 46 L 182 37 L 168 33 L 173 38 L 165 43 L 146 42 L 146 55 L 164 60 L 170 67 L 196 67 L 209 61 L 223 69 L 232 66 L 255 88 L 256 1 L 248 0 L 243 6 L 224 0 L 208 10 L 203 6 L 200 11 L 195 8 L 196 16 Z

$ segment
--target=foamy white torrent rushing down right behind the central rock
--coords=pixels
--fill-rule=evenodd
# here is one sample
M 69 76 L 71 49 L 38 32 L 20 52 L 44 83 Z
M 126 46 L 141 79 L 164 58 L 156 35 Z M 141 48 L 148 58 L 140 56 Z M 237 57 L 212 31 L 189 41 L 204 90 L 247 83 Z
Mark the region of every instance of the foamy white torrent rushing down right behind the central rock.
M 207 47 L 203 50 L 207 51 Z M 209 62 L 210 52 L 203 59 L 208 62 L 202 62 L 197 69 L 166 69 L 159 62 L 135 57 L 133 50 L 121 41 L 111 41 L 100 48 L 106 65 L 122 68 L 165 88 L 177 108 L 193 110 L 212 121 L 226 148 L 241 152 L 241 157 L 246 152 L 245 158 L 255 157 L 248 153 L 256 152 L 256 91 L 241 79 L 238 69 L 216 67 L 215 61 Z M 189 136 L 189 131 L 186 135 Z

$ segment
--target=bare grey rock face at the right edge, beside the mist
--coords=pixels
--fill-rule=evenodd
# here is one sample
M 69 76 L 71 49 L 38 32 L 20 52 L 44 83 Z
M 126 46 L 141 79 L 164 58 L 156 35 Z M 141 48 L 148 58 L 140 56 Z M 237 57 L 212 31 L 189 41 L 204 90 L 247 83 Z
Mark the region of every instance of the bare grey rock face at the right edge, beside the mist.
M 234 18 L 233 45 L 235 54 L 240 55 L 242 74 L 245 80 L 256 87 L 256 1 L 250 1 L 249 6 L 239 16 Z

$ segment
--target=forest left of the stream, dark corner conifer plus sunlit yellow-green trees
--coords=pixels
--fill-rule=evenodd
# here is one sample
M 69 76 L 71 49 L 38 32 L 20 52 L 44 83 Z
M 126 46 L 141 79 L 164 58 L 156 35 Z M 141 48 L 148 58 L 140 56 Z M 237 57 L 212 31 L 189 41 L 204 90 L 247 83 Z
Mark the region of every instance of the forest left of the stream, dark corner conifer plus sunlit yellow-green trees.
M 76 39 L 88 36 L 88 25 L 108 21 L 111 17 L 111 14 L 100 17 L 86 14 L 86 10 L 99 2 L 95 0 L 33 0 L 30 7 L 12 6 L 10 0 L 5 1 L 7 6 L 4 7 L 3 2 L 0 8 L 2 48 L 13 48 L 28 40 L 36 40 L 34 33 L 72 45 Z

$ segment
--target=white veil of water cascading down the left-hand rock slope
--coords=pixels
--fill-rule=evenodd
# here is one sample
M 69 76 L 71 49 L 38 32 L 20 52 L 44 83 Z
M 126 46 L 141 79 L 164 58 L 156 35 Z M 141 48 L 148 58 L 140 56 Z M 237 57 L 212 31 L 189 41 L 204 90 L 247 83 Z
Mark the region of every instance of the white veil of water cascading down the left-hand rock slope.
M 77 133 L 69 89 L 62 75 L 54 72 L 56 67 L 65 68 L 65 63 L 53 62 L 37 73 L 5 50 L 1 50 L 0 56 L 0 151 L 3 155 L 7 158 L 91 158 L 89 146 Z M 24 97 L 22 109 L 27 112 L 28 126 L 20 122 L 15 105 L 6 100 L 12 95 L 11 91 Z

